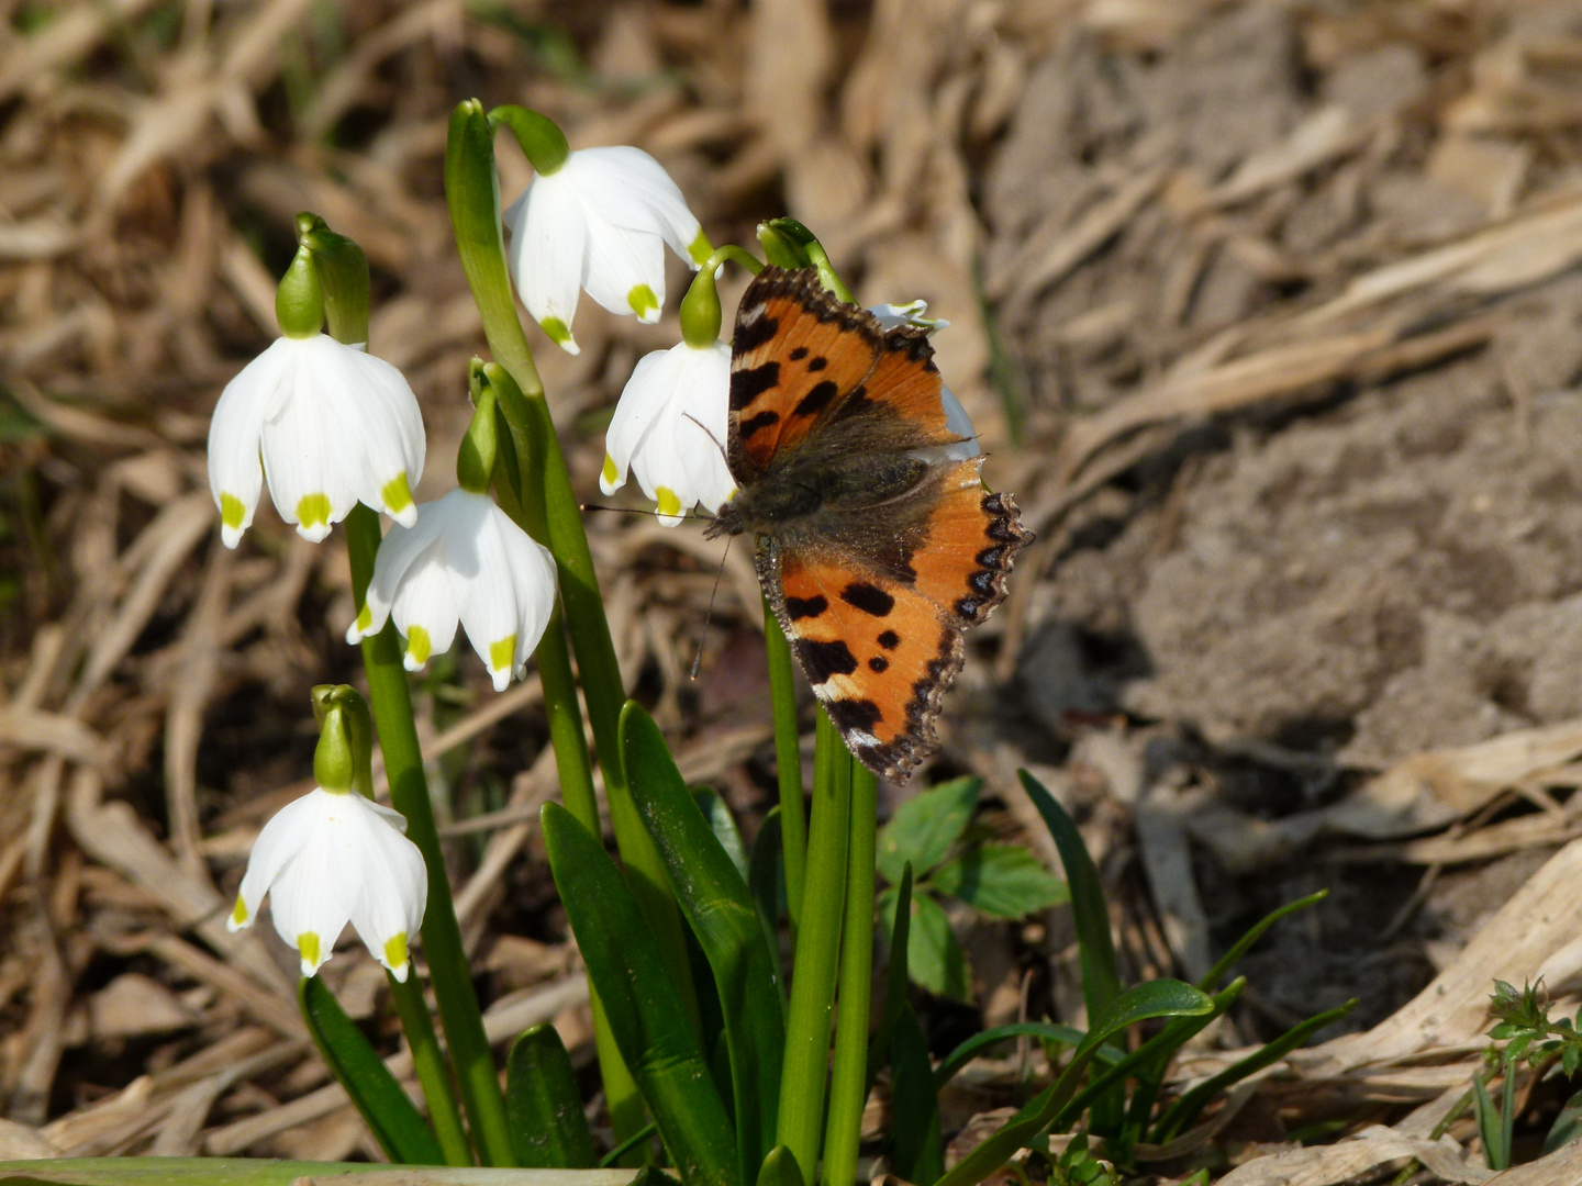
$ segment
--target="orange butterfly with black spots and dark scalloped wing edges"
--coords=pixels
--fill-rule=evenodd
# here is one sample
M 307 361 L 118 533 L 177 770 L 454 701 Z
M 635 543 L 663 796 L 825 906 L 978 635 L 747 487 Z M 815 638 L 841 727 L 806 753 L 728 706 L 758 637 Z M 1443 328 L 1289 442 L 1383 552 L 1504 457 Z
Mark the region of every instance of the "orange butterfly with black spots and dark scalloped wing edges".
M 846 748 L 905 780 L 938 750 L 962 631 L 1005 599 L 1033 534 L 962 457 L 922 329 L 884 329 L 818 283 L 766 267 L 731 345 L 726 465 L 706 534 L 751 534 L 758 579 Z

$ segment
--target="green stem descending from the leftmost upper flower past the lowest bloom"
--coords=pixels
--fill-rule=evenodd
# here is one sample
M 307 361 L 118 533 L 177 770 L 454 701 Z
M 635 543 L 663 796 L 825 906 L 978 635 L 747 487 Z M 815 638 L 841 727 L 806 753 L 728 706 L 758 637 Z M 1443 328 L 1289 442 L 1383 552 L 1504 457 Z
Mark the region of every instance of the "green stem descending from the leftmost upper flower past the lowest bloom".
M 361 503 L 346 516 L 346 550 L 351 557 L 351 590 L 362 604 L 373 577 L 373 555 L 380 547 L 380 517 Z M 429 905 L 422 916 L 422 947 L 429 958 L 433 995 L 440 1004 L 445 1039 L 451 1048 L 462 1102 L 471 1121 L 473 1139 L 486 1165 L 514 1165 L 511 1129 L 506 1121 L 505 1094 L 495 1077 L 489 1039 L 484 1036 L 478 995 L 462 947 L 462 930 L 456 922 L 451 882 L 445 874 L 445 854 L 433 825 L 429 802 L 429 780 L 422 772 L 422 750 L 411 715 L 411 691 L 402 666 L 396 625 L 362 640 L 362 666 L 369 674 L 369 705 L 384 754 L 384 773 L 391 783 L 391 803 L 407 818 L 407 837 L 422 852 L 429 867 Z

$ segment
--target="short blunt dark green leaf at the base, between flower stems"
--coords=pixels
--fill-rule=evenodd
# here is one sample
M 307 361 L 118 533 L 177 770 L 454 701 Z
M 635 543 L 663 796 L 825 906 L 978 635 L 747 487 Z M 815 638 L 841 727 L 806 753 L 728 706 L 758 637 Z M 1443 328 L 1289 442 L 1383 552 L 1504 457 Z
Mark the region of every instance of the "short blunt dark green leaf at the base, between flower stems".
M 516 1039 L 505 1064 L 505 1105 L 519 1165 L 543 1170 L 598 1165 L 571 1056 L 555 1026 L 535 1025 Z

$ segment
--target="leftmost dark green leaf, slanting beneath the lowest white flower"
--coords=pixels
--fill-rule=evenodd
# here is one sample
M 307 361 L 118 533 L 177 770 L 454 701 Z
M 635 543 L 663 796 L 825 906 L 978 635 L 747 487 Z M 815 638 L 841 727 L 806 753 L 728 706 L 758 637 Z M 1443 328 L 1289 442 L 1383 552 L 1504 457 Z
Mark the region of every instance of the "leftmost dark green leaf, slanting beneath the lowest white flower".
M 335 1078 L 358 1105 L 369 1131 L 389 1159 L 407 1165 L 443 1165 L 445 1153 L 429 1121 L 384 1067 L 369 1039 L 346 1017 L 334 993 L 316 976 L 297 985 L 302 1018 Z

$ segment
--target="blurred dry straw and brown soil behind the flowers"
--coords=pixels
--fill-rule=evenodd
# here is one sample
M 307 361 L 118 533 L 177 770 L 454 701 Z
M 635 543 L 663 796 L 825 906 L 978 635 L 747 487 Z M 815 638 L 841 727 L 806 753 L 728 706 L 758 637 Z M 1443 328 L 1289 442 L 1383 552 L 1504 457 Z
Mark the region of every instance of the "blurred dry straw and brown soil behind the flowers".
M 1058 870 L 1033 767 L 1133 979 L 1194 979 L 1329 887 L 1250 957 L 1220 1047 L 1351 996 L 1345 1026 L 1386 1022 L 1582 835 L 1582 3 L 0 14 L 0 1158 L 375 1156 L 301 1045 L 285 949 L 221 925 L 312 786 L 308 688 L 359 678 L 345 549 L 266 508 L 226 552 L 204 441 L 310 209 L 367 251 L 370 348 L 429 427 L 418 495 L 448 489 L 484 348 L 441 187 L 468 96 L 647 149 L 715 244 L 789 212 L 865 302 L 951 321 L 941 370 L 1039 541 L 970 637 L 933 770 L 881 813 L 976 773 L 981 833 Z M 506 199 L 530 177 L 509 138 L 500 174 Z M 631 367 L 679 338 L 671 266 L 658 326 L 584 299 L 579 357 L 530 329 L 590 498 Z M 751 835 L 774 765 L 750 557 L 706 633 L 715 542 L 589 523 L 628 686 Z M 554 1020 L 587 1069 L 536 680 L 495 696 L 464 648 L 414 686 L 495 1033 Z M 1060 911 L 949 911 L 965 979 L 918 990 L 937 1053 L 1081 1017 Z M 402 1058 L 378 965 L 346 946 L 324 976 Z M 946 1127 L 1016 1078 L 986 1063 Z M 1294 1127 L 1277 1110 L 1247 1140 Z

